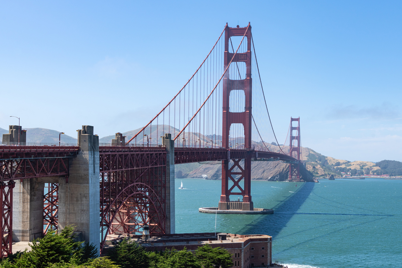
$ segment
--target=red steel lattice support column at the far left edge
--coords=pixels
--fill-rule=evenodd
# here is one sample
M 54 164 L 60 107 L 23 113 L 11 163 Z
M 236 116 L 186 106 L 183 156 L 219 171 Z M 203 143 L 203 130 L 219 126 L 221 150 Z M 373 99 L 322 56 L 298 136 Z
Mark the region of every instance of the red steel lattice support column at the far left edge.
M 12 254 L 12 189 L 14 186 L 15 182 L 11 180 L 7 184 L 0 182 L 1 258 Z

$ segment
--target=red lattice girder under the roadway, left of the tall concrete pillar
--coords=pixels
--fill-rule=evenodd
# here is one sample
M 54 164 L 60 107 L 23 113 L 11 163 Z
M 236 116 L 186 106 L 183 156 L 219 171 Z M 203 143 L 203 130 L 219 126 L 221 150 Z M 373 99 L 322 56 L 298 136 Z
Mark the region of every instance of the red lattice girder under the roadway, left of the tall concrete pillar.
M 69 157 L 0 159 L 0 181 L 68 175 Z

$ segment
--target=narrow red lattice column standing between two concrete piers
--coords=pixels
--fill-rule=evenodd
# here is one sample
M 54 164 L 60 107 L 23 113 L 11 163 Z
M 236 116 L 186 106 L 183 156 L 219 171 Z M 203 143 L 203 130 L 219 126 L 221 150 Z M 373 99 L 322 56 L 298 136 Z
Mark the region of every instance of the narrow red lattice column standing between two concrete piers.
M 45 183 L 45 194 L 43 195 L 43 234 L 47 231 L 57 230 L 58 209 L 59 209 L 59 184 Z

